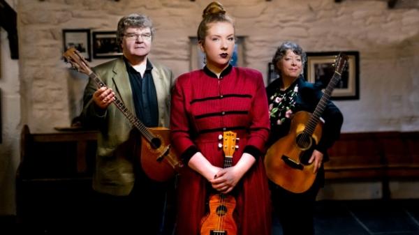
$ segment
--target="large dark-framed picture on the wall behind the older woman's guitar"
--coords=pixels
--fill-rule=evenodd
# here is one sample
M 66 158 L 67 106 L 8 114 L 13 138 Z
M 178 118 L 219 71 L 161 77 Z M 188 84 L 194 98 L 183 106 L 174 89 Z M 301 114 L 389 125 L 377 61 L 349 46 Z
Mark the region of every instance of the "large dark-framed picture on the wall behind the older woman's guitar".
M 341 52 L 348 55 L 348 65 L 332 92 L 332 100 L 359 100 L 359 52 Z M 328 86 L 335 73 L 335 59 L 339 52 L 307 52 L 304 77 L 309 82 L 321 82 Z

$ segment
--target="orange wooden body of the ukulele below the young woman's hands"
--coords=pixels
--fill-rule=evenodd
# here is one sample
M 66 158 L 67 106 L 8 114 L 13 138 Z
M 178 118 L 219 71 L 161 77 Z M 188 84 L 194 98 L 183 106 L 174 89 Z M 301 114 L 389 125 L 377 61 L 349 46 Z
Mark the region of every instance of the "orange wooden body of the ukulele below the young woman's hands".
M 200 235 L 237 235 L 233 218 L 235 198 L 231 195 L 210 196 L 210 213 L 201 221 Z

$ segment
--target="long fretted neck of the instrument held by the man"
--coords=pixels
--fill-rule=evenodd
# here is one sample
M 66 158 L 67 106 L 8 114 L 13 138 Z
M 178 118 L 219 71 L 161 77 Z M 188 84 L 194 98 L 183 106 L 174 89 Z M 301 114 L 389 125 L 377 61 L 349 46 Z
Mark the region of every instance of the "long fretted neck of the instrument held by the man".
M 95 73 L 90 73 L 89 77 L 93 79 L 99 87 L 106 86 L 106 84 L 102 82 L 102 80 Z M 114 103 L 117 106 L 117 108 L 122 112 L 122 114 L 126 116 L 128 121 L 130 121 L 133 124 L 133 126 L 135 126 L 135 128 L 137 128 L 141 132 L 142 136 L 144 136 L 149 142 L 151 142 L 152 139 L 154 139 L 154 135 L 152 134 L 152 132 L 149 132 L 148 128 L 144 125 L 144 123 L 142 123 L 140 119 L 138 119 L 132 112 L 130 112 L 129 109 L 124 105 L 124 103 L 117 98 L 117 96 L 114 96 L 114 100 L 112 103 Z

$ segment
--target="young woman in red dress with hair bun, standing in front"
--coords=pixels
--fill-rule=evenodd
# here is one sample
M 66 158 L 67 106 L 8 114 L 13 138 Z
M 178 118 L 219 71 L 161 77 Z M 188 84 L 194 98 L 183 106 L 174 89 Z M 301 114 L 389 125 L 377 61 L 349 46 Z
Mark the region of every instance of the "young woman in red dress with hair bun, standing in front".
M 172 91 L 171 140 L 186 165 L 179 176 L 176 232 L 200 234 L 208 195 L 224 193 L 237 203 L 237 234 L 271 234 L 270 191 L 261 159 L 270 128 L 263 77 L 230 65 L 235 30 L 220 3 L 205 8 L 198 43 L 205 68 L 180 75 Z M 228 130 L 237 133 L 239 148 L 233 166 L 223 168 L 219 135 Z

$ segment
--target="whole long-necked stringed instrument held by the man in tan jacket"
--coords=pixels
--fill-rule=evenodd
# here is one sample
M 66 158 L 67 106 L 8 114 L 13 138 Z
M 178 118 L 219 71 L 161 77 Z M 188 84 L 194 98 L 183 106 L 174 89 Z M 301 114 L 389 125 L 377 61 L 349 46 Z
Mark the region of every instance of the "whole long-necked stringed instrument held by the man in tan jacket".
M 106 86 L 105 83 L 91 70 L 87 61 L 83 56 L 75 50 L 74 47 L 64 52 L 64 57 L 71 66 L 79 72 L 88 75 L 96 82 L 98 88 Z M 126 116 L 135 128 L 141 133 L 141 150 L 140 162 L 142 169 L 150 179 L 154 181 L 167 181 L 175 176 L 176 172 L 182 169 L 182 161 L 177 158 L 176 154 L 170 148 L 170 130 L 168 128 L 157 127 L 147 128 L 124 103 L 114 97 L 113 104 Z

